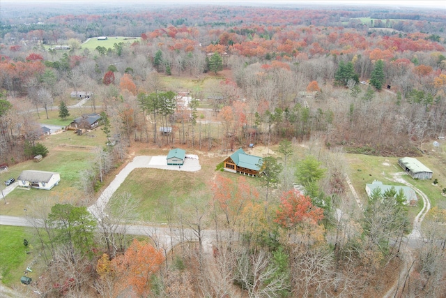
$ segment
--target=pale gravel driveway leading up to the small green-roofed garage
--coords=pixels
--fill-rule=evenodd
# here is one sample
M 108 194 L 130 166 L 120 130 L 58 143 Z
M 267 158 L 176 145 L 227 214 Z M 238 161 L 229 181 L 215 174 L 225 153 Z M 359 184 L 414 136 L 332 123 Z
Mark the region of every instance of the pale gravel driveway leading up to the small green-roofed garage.
M 136 156 L 133 161 L 128 163 L 119 174 L 116 175 L 115 179 L 105 188 L 105 191 L 101 193 L 98 201 L 89 207 L 89 211 L 96 218 L 100 219 L 103 215 L 105 206 L 107 206 L 110 198 L 114 192 L 121 186 L 128 174 L 132 170 L 138 167 L 152 167 L 155 169 L 162 170 L 172 170 L 172 171 L 185 171 L 185 172 L 197 172 L 201 170 L 201 165 L 197 155 L 186 154 L 185 161 L 181 167 L 178 165 L 167 165 L 167 156 Z

